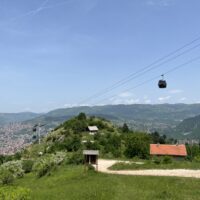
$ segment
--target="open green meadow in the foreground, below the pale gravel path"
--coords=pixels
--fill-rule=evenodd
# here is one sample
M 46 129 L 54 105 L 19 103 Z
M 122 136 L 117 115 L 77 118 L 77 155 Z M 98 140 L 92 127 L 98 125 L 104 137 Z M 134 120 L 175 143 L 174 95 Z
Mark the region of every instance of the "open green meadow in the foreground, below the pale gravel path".
M 108 175 L 82 166 L 62 166 L 51 176 L 28 174 L 14 186 L 31 189 L 34 200 L 200 200 L 200 180 Z M 13 187 L 13 186 L 9 186 Z

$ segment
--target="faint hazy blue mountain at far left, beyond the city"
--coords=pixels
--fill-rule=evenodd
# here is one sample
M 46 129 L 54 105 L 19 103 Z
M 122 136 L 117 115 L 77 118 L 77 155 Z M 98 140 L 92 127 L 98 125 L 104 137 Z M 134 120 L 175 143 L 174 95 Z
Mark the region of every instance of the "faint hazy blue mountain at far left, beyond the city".
M 22 113 L 0 113 L 0 126 L 9 123 L 23 122 L 26 120 L 34 119 L 40 116 L 40 114 L 32 112 L 22 112 Z

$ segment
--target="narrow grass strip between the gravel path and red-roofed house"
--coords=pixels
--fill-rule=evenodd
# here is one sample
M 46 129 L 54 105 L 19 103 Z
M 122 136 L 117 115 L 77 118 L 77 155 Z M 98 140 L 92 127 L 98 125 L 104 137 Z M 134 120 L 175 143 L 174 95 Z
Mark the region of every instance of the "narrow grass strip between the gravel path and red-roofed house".
M 168 164 L 156 164 L 153 161 L 143 161 L 144 164 L 136 163 L 116 163 L 112 170 L 140 170 L 140 169 L 200 169 L 200 163 L 190 161 L 173 161 Z

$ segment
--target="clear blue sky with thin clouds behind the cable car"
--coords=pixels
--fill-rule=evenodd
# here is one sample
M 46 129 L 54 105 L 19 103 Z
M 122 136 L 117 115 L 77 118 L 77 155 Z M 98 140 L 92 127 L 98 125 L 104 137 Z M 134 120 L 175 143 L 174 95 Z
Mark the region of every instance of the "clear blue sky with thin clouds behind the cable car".
M 199 0 L 0 0 L 0 112 L 200 103 L 199 10 Z

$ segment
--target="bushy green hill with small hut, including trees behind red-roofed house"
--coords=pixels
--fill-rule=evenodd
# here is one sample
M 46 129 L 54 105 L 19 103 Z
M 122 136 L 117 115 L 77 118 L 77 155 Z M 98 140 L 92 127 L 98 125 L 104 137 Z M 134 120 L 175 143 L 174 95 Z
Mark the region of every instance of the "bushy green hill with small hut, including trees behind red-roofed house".
M 91 134 L 88 126 L 96 126 L 98 131 Z M 124 155 L 129 158 L 147 158 L 151 142 L 173 143 L 174 140 L 157 133 L 133 132 L 126 124 L 117 127 L 106 119 L 80 113 L 49 132 L 40 144 L 35 140 L 24 153 L 27 154 L 26 157 L 38 157 L 38 152 L 54 154 L 60 151 L 77 152 L 82 155 L 83 149 L 93 149 L 100 150 L 101 156 L 105 157 L 117 158 Z M 130 148 L 137 150 L 132 151 Z M 77 161 L 76 157 L 73 159 L 72 162 Z

